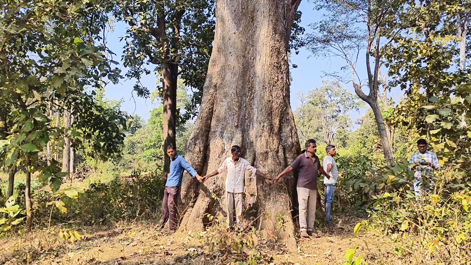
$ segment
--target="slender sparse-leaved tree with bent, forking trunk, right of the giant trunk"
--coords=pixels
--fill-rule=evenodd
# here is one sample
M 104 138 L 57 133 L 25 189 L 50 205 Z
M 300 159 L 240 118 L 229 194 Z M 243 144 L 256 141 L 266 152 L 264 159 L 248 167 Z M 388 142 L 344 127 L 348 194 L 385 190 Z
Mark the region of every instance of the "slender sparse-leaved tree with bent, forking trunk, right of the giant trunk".
M 374 112 L 381 138 L 384 157 L 388 165 L 394 162 L 388 133 L 378 102 L 379 72 L 384 49 L 404 24 L 398 23 L 406 6 L 406 0 L 313 0 L 316 9 L 325 9 L 319 23 L 312 24 L 313 33 L 305 39 L 309 50 L 316 56 L 339 56 L 347 63 L 351 77 L 343 78 L 352 82 L 358 97 L 368 103 Z M 366 82 L 358 75 L 358 58 L 365 55 Z M 366 86 L 368 93 L 362 90 Z

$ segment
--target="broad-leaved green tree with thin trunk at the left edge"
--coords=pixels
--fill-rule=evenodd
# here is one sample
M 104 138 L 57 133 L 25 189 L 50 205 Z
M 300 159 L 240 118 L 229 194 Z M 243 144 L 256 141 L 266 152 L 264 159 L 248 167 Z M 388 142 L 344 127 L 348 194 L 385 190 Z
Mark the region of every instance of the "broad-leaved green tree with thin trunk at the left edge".
M 94 149 L 119 149 L 124 136 L 119 130 L 109 132 L 116 131 L 116 120 L 113 116 L 95 116 L 95 104 L 84 90 L 100 86 L 102 77 L 116 82 L 120 75 L 106 56 L 110 51 L 100 44 L 98 34 L 109 22 L 109 9 L 104 5 L 73 0 L 7 0 L 2 8 L 0 101 L 11 106 L 7 120 L 15 124 L 8 126 L 6 138 L 0 141 L 2 164 L 15 170 L 26 161 L 26 201 L 31 209 L 31 172 L 40 171 L 54 192 L 64 176 L 57 162 L 46 167 L 31 164 L 50 140 L 61 146 L 64 137 L 81 136 L 87 141 L 101 131 Z M 62 103 L 56 104 L 57 112 L 62 106 L 70 109 L 73 103 L 77 105 L 74 115 L 81 121 L 80 130 L 65 132 L 58 123 L 51 125 L 44 114 L 57 98 Z M 120 121 L 124 123 L 124 117 Z M 28 220 L 31 226 L 32 211 L 28 211 Z

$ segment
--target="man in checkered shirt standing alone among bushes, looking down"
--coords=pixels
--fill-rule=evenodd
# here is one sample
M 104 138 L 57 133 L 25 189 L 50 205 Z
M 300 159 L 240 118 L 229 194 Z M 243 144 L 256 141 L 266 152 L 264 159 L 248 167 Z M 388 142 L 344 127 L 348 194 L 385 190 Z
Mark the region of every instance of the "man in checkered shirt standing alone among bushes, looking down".
M 419 139 L 417 141 L 417 148 L 419 149 L 418 152 L 412 154 L 412 157 L 409 161 L 409 164 L 413 164 L 409 166 L 410 170 L 414 170 L 414 190 L 415 196 L 422 197 L 422 177 L 427 178 L 427 182 L 429 182 L 429 186 L 433 186 L 433 179 L 434 179 L 434 170 L 440 170 L 439 158 L 435 153 L 432 153 L 427 150 L 427 141 L 425 139 Z M 427 191 L 428 188 L 425 188 Z M 418 200 L 419 198 L 417 198 Z

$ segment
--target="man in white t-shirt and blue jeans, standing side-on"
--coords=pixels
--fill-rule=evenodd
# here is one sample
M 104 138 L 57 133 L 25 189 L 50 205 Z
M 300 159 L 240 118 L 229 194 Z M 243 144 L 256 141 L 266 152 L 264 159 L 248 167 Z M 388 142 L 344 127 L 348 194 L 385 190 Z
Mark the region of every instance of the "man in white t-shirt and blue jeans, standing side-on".
M 330 227 L 335 227 L 335 224 L 332 223 L 332 218 L 330 212 L 332 210 L 332 201 L 333 193 L 335 188 L 337 188 L 337 180 L 339 179 L 339 170 L 337 169 L 337 164 L 333 157 L 337 154 L 337 150 L 334 145 L 328 145 L 325 147 L 327 156 L 324 157 L 324 162 L 322 163 L 325 173 L 330 175 L 330 179 L 324 177 L 325 185 L 325 221 Z

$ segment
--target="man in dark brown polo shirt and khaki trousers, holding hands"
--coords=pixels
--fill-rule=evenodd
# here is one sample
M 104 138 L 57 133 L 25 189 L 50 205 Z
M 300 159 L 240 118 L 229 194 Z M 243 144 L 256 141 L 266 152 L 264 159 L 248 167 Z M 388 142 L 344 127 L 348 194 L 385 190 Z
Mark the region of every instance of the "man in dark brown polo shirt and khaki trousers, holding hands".
M 282 176 L 290 173 L 293 169 L 298 169 L 298 191 L 299 202 L 299 226 L 301 236 L 309 238 L 314 235 L 314 221 L 316 220 L 316 201 L 317 201 L 317 177 L 319 172 L 330 179 L 321 166 L 319 157 L 316 156 L 316 140 L 306 141 L 306 152 L 300 154 L 294 159 L 291 166 L 286 167 L 282 173 L 278 174 L 273 182 L 277 182 Z

